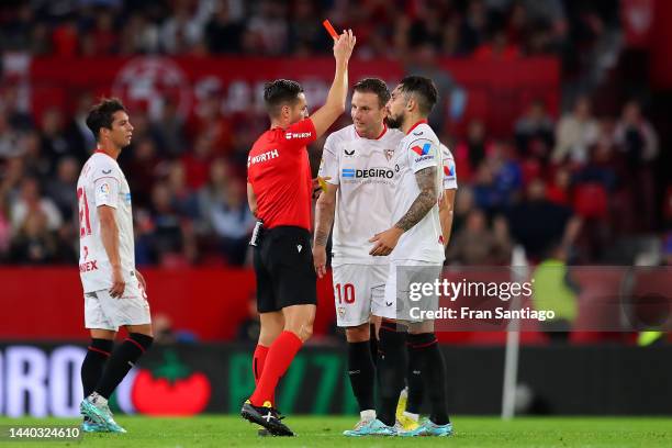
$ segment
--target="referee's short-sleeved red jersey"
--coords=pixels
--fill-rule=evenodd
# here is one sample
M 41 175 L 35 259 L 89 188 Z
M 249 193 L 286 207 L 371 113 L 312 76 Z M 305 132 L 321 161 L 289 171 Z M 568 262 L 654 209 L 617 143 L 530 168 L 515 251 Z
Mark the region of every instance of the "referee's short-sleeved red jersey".
M 266 228 L 293 225 L 311 229 L 313 183 L 306 145 L 315 125 L 305 119 L 261 134 L 247 157 L 247 181 L 257 198 L 257 217 Z

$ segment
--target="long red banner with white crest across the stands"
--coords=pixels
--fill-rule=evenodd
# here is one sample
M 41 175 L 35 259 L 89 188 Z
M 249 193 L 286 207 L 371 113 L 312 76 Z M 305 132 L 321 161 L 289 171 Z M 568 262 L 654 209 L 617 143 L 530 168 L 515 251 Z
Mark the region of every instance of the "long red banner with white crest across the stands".
M 560 65 L 556 58 L 527 58 L 516 61 L 441 59 L 437 76 L 448 75 L 464 93 L 450 104 L 451 123 L 458 128 L 472 117 L 484 120 L 495 135 L 509 135 L 513 122 L 533 99 L 546 101 L 551 113 L 558 112 Z M 393 60 L 354 60 L 350 81 L 368 76 L 394 86 L 405 74 Z M 40 117 L 49 107 L 71 110 L 83 91 L 113 94 L 131 108 L 139 107 L 157 115 L 167 101 L 186 115 L 205 98 L 216 94 L 225 114 L 262 114 L 262 86 L 276 78 L 300 81 L 309 107 L 324 102 L 334 75 L 332 58 L 166 58 L 135 57 L 35 58 L 26 76 L 31 86 L 31 105 Z

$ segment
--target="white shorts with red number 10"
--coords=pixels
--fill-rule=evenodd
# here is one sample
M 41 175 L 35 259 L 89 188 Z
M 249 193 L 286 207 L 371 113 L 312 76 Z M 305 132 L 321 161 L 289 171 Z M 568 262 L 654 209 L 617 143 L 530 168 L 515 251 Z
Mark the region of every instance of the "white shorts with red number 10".
M 369 322 L 384 307 L 388 265 L 334 266 L 334 302 L 339 327 L 358 326 Z

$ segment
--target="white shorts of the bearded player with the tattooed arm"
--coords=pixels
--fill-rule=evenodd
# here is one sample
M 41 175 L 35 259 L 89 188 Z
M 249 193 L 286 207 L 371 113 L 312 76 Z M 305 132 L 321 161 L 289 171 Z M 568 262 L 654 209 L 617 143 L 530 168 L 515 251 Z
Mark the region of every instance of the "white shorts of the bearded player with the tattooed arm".
M 377 316 L 397 318 L 410 322 L 422 322 L 422 320 L 413 318 L 411 315 L 412 307 L 419 310 L 437 310 L 438 295 L 423 295 L 422 299 L 411 300 L 411 291 L 414 289 L 417 292 L 417 285 L 432 283 L 440 279 L 443 264 L 436 261 L 418 261 L 418 260 L 394 260 L 390 262 L 388 280 L 385 282 L 385 306 L 387 314 L 376 314 Z M 415 283 L 415 284 L 414 284 Z

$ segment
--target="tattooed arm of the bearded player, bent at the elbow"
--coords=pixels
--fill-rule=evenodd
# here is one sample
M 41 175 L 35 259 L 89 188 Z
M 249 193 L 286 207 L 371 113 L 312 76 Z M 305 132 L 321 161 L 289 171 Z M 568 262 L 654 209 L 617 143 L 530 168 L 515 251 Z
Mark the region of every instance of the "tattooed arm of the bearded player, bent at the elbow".
M 421 190 L 419 194 L 415 198 L 408 211 L 392 228 L 379 233 L 373 236 L 373 238 L 369 239 L 369 242 L 376 243 L 376 246 L 373 246 L 369 253 L 370 255 L 390 255 L 402 234 L 419 223 L 423 217 L 429 213 L 432 208 L 436 204 L 438 195 L 436 188 L 436 167 L 427 167 L 415 173 L 415 180 Z

